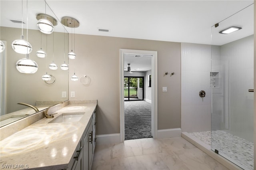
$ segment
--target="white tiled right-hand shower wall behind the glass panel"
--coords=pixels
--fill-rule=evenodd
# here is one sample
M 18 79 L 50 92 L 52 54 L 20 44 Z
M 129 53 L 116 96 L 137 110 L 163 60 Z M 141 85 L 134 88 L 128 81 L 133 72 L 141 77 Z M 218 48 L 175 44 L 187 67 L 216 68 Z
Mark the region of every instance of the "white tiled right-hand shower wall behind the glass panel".
M 228 130 L 241 138 L 253 142 L 254 127 L 254 94 L 248 89 L 254 87 L 254 37 L 248 36 L 240 40 L 222 45 L 220 53 L 222 60 L 228 62 L 230 91 L 230 126 Z M 226 99 L 227 100 L 227 99 Z

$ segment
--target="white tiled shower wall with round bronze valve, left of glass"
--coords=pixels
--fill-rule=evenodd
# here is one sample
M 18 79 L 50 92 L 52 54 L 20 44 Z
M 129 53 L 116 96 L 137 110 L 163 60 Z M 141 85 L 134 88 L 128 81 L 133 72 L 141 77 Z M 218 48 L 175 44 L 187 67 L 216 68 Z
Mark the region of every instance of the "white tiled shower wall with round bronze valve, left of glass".
M 181 43 L 182 132 L 211 130 L 211 45 Z M 199 91 L 206 91 L 201 98 Z

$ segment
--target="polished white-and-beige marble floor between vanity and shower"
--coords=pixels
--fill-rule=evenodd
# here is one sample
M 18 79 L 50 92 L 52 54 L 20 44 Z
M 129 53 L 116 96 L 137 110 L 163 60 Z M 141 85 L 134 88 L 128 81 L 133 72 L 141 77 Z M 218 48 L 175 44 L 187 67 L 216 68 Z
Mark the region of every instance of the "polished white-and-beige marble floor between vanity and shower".
M 96 145 L 92 170 L 228 170 L 182 137 Z

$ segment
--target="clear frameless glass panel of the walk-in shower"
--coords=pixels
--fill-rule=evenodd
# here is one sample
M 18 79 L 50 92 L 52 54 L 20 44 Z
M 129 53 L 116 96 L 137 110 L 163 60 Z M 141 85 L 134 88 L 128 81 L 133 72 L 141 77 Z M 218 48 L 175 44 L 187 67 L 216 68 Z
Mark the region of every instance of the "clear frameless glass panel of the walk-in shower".
M 212 27 L 211 149 L 254 169 L 254 9 L 244 8 Z M 242 27 L 220 34 L 230 26 Z

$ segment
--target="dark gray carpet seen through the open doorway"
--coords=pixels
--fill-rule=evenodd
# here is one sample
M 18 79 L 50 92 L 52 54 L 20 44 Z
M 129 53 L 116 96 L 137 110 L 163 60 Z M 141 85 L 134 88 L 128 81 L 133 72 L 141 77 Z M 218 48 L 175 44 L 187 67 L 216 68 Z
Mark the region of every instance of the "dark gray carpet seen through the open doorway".
M 124 140 L 152 137 L 150 103 L 124 101 L 124 134 Z

